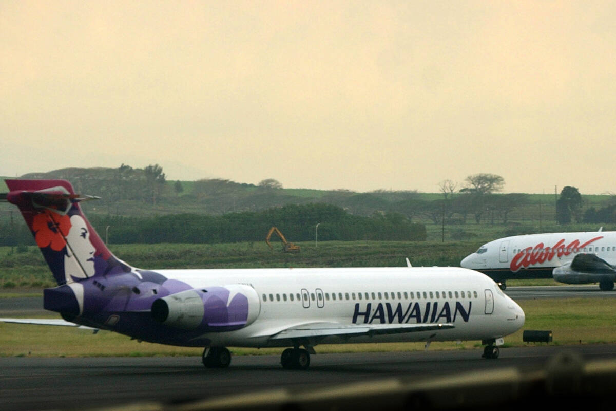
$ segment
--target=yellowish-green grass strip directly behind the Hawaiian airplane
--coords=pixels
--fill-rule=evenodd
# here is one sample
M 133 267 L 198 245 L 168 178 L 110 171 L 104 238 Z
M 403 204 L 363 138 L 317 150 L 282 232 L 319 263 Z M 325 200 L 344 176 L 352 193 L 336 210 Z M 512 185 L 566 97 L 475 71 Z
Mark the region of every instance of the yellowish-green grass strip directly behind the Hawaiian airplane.
M 554 345 L 616 343 L 616 299 L 571 298 L 521 300 L 524 327 L 506 336 L 507 346 L 525 346 L 523 330 L 551 330 Z M 432 343 L 430 349 L 474 349 L 480 341 Z M 279 354 L 282 349 L 230 348 L 235 355 Z M 423 343 L 323 344 L 316 351 L 419 351 Z M 69 327 L 0 323 L 0 356 L 198 356 L 199 348 L 137 343 L 120 334 Z

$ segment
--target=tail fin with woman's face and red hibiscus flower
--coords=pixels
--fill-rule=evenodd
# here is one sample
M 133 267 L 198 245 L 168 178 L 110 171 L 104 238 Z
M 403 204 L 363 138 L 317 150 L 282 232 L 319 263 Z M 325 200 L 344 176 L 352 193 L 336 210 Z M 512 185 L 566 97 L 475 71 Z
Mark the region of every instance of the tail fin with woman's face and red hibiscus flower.
M 6 200 L 18 206 L 58 285 L 131 271 L 81 211 L 80 201 L 97 197 L 75 194 L 65 180 L 8 179 L 6 184 Z

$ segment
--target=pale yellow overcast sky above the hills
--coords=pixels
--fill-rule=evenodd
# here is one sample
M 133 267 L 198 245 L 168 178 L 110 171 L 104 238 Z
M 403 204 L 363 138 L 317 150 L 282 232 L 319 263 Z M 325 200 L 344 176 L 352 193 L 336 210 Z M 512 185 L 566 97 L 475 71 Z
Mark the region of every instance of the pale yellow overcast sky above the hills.
M 615 18 L 612 1 L 2 0 L 0 175 L 616 192 Z

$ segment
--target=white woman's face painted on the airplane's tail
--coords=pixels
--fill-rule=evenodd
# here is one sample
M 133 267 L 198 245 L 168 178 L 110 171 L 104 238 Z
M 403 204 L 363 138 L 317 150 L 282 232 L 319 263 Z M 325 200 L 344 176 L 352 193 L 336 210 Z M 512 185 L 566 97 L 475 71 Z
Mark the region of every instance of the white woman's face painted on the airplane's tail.
M 70 277 L 84 279 L 94 275 L 94 253 L 90 232 L 83 217 L 71 216 L 71 230 L 67 235 L 67 254 L 64 257 L 64 271 Z

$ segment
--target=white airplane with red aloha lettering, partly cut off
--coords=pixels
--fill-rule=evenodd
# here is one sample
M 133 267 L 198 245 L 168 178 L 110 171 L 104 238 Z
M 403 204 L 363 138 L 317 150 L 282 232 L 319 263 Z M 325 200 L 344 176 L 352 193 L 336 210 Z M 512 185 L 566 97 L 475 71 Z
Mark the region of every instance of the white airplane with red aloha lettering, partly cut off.
M 561 232 L 514 235 L 479 247 L 461 267 L 489 275 L 505 290 L 507 279 L 550 278 L 567 284 L 599 283 L 609 291 L 616 280 L 616 232 Z

